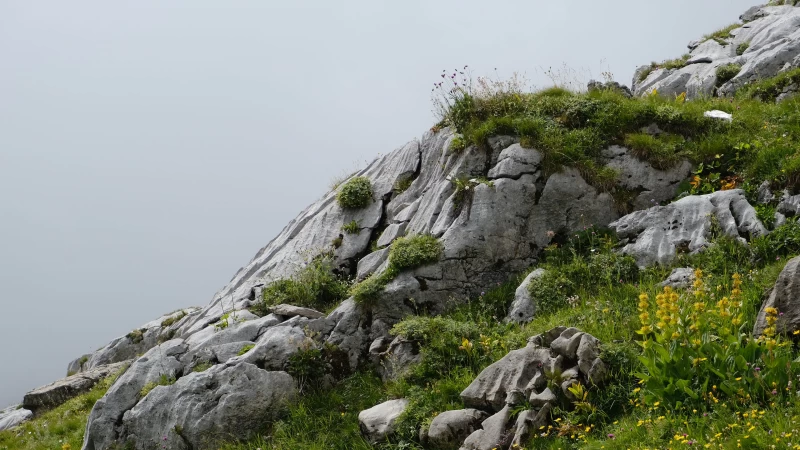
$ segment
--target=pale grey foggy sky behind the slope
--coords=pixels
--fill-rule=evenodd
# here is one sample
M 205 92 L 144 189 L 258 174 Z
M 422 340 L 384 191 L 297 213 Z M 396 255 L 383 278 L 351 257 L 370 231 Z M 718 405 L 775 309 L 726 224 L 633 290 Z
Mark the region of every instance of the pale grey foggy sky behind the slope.
M 0 0 L 0 407 L 205 305 L 335 175 L 430 128 L 442 69 L 630 84 L 753 4 Z

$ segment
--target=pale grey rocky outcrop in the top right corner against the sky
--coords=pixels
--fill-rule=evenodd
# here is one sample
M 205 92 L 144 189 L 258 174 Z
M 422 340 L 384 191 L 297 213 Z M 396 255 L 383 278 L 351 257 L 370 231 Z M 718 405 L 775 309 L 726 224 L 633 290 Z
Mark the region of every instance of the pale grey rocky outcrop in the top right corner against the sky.
M 742 15 L 740 27 L 730 35 L 708 38 L 689 45 L 686 65 L 678 69 L 639 68 L 634 74 L 633 92 L 642 96 L 654 89 L 674 97 L 732 95 L 739 88 L 779 72 L 800 67 L 800 8 L 790 5 L 751 8 Z M 729 80 L 718 79 L 723 66 L 740 68 Z

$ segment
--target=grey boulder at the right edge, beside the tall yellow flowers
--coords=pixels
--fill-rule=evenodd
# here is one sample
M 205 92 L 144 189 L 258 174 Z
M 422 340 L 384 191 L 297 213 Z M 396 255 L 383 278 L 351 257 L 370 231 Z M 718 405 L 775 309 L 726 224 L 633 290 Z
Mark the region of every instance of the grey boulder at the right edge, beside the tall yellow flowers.
M 776 308 L 779 313 L 783 313 L 776 324 L 780 332 L 791 336 L 793 332 L 800 330 L 800 257 L 792 258 L 786 263 L 778 276 L 778 281 L 756 316 L 754 335 L 761 335 L 767 327 L 767 308 Z

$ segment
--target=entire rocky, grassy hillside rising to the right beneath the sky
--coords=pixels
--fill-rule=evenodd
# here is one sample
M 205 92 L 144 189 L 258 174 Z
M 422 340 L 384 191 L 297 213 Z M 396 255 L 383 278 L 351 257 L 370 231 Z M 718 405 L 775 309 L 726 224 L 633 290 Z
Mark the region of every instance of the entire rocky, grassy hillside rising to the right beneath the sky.
M 443 72 L 439 123 L 0 450 L 800 448 L 800 7 L 741 19 L 632 89 Z

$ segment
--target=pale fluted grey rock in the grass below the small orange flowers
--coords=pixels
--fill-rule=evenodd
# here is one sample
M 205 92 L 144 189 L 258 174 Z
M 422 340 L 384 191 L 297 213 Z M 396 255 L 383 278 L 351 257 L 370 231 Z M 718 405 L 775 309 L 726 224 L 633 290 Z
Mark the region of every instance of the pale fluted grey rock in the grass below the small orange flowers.
M 767 233 L 740 189 L 684 197 L 628 214 L 610 226 L 628 240 L 622 252 L 636 258 L 640 266 L 668 264 L 678 250 L 694 253 L 708 245 L 712 215 L 722 232 L 732 237 Z

